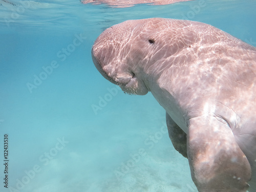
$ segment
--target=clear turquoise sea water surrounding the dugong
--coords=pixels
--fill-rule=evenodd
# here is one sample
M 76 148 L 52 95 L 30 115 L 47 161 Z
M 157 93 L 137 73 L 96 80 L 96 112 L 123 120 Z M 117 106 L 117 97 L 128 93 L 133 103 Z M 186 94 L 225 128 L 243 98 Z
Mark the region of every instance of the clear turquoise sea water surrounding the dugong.
M 197 191 L 164 110 L 105 80 L 91 47 L 104 29 L 148 17 L 197 20 L 256 46 L 256 2 L 244 2 L 0 1 L 0 191 Z

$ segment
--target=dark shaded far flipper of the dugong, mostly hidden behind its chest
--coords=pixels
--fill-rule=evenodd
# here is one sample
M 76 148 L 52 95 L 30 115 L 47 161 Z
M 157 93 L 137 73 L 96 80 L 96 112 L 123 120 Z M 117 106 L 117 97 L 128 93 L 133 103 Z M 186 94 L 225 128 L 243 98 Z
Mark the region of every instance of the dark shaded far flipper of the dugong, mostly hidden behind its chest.
M 174 120 L 166 113 L 166 124 L 169 138 L 174 148 L 184 157 L 187 158 L 187 134 L 180 129 Z

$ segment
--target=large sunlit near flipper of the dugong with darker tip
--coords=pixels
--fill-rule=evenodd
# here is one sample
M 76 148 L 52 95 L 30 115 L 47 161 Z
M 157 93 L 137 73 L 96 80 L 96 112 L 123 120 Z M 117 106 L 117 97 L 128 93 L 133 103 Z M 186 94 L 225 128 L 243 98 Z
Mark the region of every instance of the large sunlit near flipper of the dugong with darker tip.
M 250 164 L 229 124 L 214 116 L 188 121 L 187 155 L 191 176 L 200 192 L 245 192 Z

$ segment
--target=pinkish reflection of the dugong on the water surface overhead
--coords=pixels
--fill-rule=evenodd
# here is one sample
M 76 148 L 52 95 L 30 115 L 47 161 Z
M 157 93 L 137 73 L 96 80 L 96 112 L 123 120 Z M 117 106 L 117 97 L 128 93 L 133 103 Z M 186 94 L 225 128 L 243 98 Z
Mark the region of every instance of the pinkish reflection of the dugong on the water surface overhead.
M 124 8 L 132 7 L 136 4 L 151 4 L 151 5 L 167 5 L 178 2 L 187 2 L 192 0 L 84 0 L 83 4 L 92 3 L 93 5 L 108 4 L 111 7 Z

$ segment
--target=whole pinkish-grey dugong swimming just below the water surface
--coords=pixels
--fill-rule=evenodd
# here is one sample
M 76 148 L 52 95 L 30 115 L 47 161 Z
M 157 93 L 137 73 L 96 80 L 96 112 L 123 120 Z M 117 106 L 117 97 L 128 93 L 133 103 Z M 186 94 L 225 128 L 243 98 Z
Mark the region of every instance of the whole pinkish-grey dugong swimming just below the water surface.
M 92 58 L 124 92 L 150 91 L 163 106 L 198 191 L 256 191 L 256 48 L 207 24 L 150 18 L 106 29 Z

